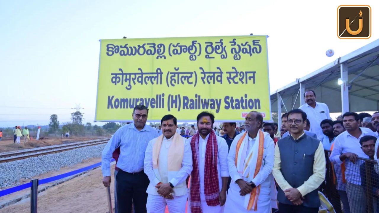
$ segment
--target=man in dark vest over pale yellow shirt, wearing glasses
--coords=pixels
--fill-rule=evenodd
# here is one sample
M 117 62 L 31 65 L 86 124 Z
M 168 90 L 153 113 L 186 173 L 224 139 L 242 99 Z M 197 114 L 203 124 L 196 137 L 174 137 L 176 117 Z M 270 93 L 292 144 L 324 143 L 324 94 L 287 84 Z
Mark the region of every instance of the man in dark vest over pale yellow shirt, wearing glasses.
M 318 187 L 325 179 L 323 144 L 304 133 L 307 114 L 296 109 L 287 115 L 291 136 L 275 147 L 273 175 L 279 185 L 279 213 L 318 213 Z

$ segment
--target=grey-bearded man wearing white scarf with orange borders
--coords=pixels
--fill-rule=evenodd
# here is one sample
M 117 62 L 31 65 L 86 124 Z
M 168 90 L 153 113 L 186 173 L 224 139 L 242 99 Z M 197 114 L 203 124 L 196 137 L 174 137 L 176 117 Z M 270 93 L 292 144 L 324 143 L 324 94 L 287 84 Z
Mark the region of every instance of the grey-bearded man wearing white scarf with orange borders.
M 271 174 L 274 141 L 268 133 L 260 130 L 262 121 L 260 113 L 249 113 L 245 123 L 246 132 L 237 135 L 230 147 L 228 166 L 232 182 L 225 212 L 270 213 L 271 208 L 277 208 L 276 186 Z M 260 168 L 256 169 L 258 165 Z

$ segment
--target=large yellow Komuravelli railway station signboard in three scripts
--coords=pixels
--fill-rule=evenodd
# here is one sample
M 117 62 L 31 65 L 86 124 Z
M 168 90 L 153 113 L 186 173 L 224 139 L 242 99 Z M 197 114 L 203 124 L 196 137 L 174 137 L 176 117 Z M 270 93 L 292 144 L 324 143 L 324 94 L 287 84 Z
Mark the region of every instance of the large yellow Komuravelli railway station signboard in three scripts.
M 267 36 L 107 39 L 100 41 L 95 121 L 149 121 L 173 114 L 196 121 L 244 121 L 252 110 L 271 120 Z

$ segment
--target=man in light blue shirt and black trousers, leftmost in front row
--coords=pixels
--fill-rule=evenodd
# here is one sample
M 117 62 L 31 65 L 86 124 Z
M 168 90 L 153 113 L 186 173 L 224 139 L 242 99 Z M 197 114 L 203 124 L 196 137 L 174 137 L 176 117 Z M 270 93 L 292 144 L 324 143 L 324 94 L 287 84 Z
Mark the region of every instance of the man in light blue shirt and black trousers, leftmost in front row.
M 149 109 L 137 105 L 133 109 L 133 123 L 120 127 L 104 147 L 102 153 L 103 185 L 111 184 L 110 162 L 112 153 L 120 148 L 116 175 L 118 212 L 146 212 L 149 178 L 143 171 L 145 150 L 149 141 L 158 137 L 155 128 L 146 125 Z

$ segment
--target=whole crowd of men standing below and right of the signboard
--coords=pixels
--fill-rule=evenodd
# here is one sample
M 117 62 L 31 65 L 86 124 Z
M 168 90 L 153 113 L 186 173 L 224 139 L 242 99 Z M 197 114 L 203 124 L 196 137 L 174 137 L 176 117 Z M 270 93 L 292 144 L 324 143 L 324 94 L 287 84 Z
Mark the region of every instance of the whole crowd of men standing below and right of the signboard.
M 171 114 L 157 130 L 146 125 L 149 109 L 136 106 L 133 123 L 119 128 L 102 153 L 106 187 L 111 158 L 116 160 L 116 213 L 129 213 L 132 206 L 138 213 L 161 213 L 166 206 L 180 213 L 333 212 L 320 192 L 329 181 L 328 161 L 344 212 L 379 212 L 378 163 L 363 160 L 377 161 L 379 112 L 346 112 L 332 121 L 314 91 L 306 91 L 304 99 L 299 109 L 281 116 L 280 128 L 251 111 L 241 128 L 224 122 L 222 136 L 211 113 L 197 115 L 197 130 L 178 128 Z M 373 207 L 368 199 L 374 199 Z

